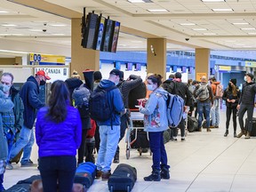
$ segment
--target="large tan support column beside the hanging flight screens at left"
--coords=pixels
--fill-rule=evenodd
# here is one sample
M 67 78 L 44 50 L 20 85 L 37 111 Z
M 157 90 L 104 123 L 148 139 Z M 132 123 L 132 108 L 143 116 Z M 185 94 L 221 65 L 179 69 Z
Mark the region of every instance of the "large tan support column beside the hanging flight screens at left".
M 84 49 L 81 46 L 81 23 L 82 19 L 71 20 L 71 65 L 70 74 L 76 70 L 80 76 L 87 68 L 100 70 L 100 52 L 92 49 Z

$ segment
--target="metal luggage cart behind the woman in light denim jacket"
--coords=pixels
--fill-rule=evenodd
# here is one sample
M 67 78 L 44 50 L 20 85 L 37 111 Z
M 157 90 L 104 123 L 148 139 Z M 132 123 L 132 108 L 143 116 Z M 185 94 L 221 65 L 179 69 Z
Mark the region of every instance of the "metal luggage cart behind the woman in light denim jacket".
M 144 130 L 144 125 L 143 125 L 144 115 L 141 114 L 138 109 L 130 109 L 130 111 L 131 111 L 130 126 L 128 126 L 128 129 L 127 129 L 127 132 L 126 132 L 126 137 L 125 137 L 126 158 L 127 159 L 130 158 L 130 151 L 131 151 L 131 148 L 132 148 L 132 144 L 135 144 L 136 140 L 138 139 L 139 133 L 140 132 L 142 133 L 143 130 Z M 135 124 L 139 124 L 139 126 L 135 126 Z M 146 143 L 144 142 L 142 146 L 137 148 L 139 150 L 140 156 L 143 152 L 142 151 L 143 148 L 149 148 L 148 132 L 143 132 L 143 135 L 144 134 L 145 134 L 145 137 L 147 138 L 146 140 L 148 142 L 146 142 Z M 131 140 L 131 135 L 134 137 L 132 140 Z M 150 155 L 151 155 L 151 152 L 150 152 Z

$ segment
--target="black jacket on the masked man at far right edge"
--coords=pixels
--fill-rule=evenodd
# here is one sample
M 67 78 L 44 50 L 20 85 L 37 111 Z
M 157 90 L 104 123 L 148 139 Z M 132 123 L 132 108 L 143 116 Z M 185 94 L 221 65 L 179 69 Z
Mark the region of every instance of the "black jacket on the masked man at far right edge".
M 244 105 L 254 105 L 254 97 L 256 93 L 256 84 L 251 83 L 244 83 L 242 88 L 242 94 L 240 97 L 240 100 L 238 101 L 238 104 L 244 104 Z

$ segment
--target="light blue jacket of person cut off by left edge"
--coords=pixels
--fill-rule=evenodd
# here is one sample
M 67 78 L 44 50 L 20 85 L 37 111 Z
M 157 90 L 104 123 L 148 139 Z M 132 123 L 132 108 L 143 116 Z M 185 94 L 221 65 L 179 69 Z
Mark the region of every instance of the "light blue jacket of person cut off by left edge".
M 2 114 L 14 107 L 12 100 L 5 98 L 4 92 L 0 91 L 0 160 L 6 160 L 8 156 L 7 140 L 4 136 Z

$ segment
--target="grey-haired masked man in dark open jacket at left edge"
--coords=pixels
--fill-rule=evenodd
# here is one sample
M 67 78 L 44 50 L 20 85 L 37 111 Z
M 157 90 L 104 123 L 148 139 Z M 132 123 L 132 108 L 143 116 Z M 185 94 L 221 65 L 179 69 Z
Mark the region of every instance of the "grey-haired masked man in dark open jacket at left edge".
M 12 100 L 14 108 L 2 113 L 4 135 L 8 142 L 8 153 L 10 152 L 14 139 L 19 137 L 23 125 L 24 106 L 19 91 L 12 86 L 13 76 L 11 73 L 4 73 L 1 76 L 1 84 L 5 96 Z M 6 169 L 12 169 L 12 164 L 7 159 Z

